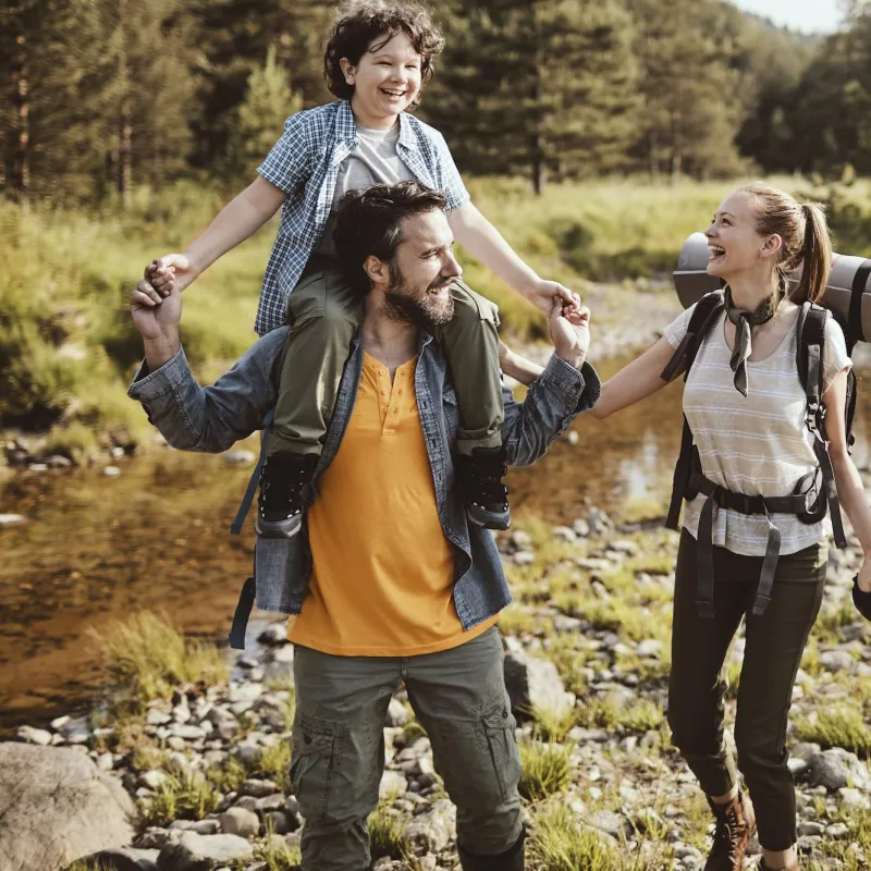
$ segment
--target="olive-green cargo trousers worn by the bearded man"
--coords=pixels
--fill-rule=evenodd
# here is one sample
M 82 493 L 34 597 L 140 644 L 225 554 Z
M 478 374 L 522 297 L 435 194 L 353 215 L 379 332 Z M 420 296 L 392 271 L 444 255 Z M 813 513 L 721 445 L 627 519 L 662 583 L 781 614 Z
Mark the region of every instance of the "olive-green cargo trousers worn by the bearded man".
M 304 871 L 369 867 L 368 815 L 384 768 L 384 719 L 402 682 L 456 805 L 457 841 L 477 856 L 523 831 L 520 758 L 494 626 L 418 657 L 334 657 L 297 646 L 292 788 L 305 818 Z

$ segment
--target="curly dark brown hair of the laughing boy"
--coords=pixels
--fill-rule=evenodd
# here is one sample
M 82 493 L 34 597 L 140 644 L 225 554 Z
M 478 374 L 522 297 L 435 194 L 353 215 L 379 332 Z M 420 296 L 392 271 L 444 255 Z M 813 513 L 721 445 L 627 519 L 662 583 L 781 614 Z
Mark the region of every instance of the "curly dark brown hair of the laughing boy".
M 348 0 L 340 7 L 335 24 L 327 40 L 323 54 L 323 77 L 327 87 L 339 99 L 349 100 L 354 85 L 348 85 L 340 61 L 347 58 L 355 66 L 379 37 L 380 48 L 397 34 L 404 33 L 420 56 L 420 87 L 432 78 L 433 61 L 444 49 L 444 37 L 417 0 Z M 413 103 L 417 107 L 418 101 Z

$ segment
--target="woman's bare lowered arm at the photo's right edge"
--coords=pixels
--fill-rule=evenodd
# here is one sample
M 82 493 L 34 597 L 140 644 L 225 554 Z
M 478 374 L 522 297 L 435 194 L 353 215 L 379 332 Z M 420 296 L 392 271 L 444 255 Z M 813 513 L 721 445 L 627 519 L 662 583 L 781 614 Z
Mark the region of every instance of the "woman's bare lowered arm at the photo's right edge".
M 823 394 L 825 405 L 825 434 L 829 437 L 829 455 L 835 471 L 837 498 L 859 543 L 864 560 L 859 572 L 859 588 L 871 590 L 871 508 L 864 494 L 859 470 L 847 452 L 847 437 L 844 430 L 844 407 L 847 402 L 847 370 L 838 372 L 829 390 Z

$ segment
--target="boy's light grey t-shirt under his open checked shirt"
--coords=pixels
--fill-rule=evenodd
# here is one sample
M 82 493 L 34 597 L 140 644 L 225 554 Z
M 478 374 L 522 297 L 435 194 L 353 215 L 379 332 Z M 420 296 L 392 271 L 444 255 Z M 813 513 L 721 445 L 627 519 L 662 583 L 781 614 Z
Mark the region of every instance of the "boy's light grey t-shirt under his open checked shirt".
M 348 191 L 371 187 L 373 184 L 395 184 L 415 177 L 396 152 L 398 142 L 398 124 L 387 131 L 369 130 L 357 124 L 357 147 L 339 165 L 330 219 L 312 254 L 320 257 L 336 256 L 333 244 L 335 210 L 339 200 Z

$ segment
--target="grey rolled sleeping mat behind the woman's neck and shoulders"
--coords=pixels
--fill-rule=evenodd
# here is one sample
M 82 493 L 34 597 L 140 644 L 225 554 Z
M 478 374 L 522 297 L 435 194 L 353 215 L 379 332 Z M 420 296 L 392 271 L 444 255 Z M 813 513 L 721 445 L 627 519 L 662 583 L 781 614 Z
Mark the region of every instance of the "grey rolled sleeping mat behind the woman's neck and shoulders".
M 789 280 L 797 281 L 800 274 L 799 270 Z M 704 233 L 694 233 L 684 243 L 673 275 L 684 308 L 723 286 L 719 278 L 708 274 L 708 238 Z M 848 324 L 848 341 L 871 341 L 871 260 L 845 254 L 833 255 L 825 295 L 820 302 L 832 309 L 842 324 Z

